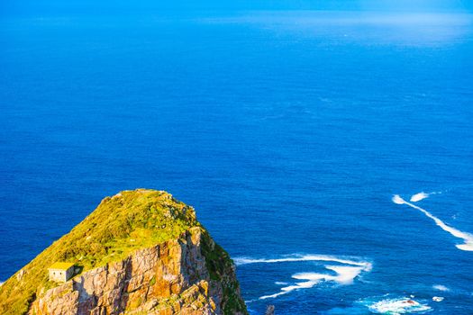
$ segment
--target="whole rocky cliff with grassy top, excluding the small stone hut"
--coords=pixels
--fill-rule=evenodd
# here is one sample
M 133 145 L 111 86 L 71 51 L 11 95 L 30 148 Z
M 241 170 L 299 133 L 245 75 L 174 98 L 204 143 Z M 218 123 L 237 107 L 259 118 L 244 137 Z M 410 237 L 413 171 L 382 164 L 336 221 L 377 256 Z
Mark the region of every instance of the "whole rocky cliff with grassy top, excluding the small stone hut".
M 79 267 L 48 280 L 55 261 Z M 1 314 L 246 314 L 228 254 L 168 193 L 136 190 L 96 211 L 0 286 Z

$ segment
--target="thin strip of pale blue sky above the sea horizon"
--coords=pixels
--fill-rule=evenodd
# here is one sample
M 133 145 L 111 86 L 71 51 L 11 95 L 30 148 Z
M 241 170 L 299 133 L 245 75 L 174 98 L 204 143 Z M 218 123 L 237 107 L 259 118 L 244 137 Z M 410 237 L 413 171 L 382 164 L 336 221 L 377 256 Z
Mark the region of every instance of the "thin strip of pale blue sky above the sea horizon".
M 2 0 L 0 14 L 106 14 L 132 11 L 336 10 L 465 12 L 468 0 Z

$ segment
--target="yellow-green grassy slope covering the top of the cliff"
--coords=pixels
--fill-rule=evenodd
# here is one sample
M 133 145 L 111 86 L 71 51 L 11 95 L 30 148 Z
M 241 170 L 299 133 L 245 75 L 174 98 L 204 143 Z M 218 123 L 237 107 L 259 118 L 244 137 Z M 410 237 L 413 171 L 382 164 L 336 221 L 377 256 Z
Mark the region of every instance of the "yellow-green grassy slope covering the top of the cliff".
M 76 263 L 84 272 L 178 238 L 195 226 L 200 224 L 194 209 L 169 193 L 139 189 L 106 197 L 96 211 L 0 286 L 0 314 L 23 314 L 41 288 L 56 286 L 48 280 L 54 262 Z

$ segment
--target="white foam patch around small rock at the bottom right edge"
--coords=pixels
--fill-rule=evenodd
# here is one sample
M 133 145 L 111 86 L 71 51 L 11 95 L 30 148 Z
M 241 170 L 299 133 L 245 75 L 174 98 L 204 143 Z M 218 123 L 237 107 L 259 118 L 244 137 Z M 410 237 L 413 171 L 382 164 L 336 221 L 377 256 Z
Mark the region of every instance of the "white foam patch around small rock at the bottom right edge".
M 432 310 L 430 306 L 409 298 L 381 300 L 369 305 L 368 309 L 376 314 L 405 314 Z

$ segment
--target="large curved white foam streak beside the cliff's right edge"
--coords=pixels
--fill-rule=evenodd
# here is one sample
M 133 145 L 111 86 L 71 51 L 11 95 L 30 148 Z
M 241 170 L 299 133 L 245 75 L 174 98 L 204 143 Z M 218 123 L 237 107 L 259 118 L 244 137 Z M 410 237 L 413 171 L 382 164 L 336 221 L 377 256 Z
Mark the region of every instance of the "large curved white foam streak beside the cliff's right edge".
M 324 266 L 327 270 L 332 270 L 335 275 L 331 274 L 318 274 L 318 273 L 299 273 L 292 275 L 296 280 L 302 280 L 296 284 L 287 285 L 282 287 L 280 292 L 263 295 L 259 297 L 259 300 L 266 300 L 270 298 L 276 298 L 277 296 L 291 293 L 295 290 L 309 289 L 314 285 L 319 284 L 322 281 L 331 281 L 337 284 L 353 284 L 354 279 L 363 271 L 368 272 L 372 269 L 372 265 L 366 261 L 346 259 L 343 257 L 325 256 L 325 255 L 293 255 L 291 257 L 277 258 L 277 259 L 252 259 L 248 257 L 235 258 L 237 265 L 247 264 L 276 264 L 276 263 L 291 263 L 301 261 L 323 261 L 340 263 L 342 266 Z M 284 284 L 284 283 L 276 283 Z

